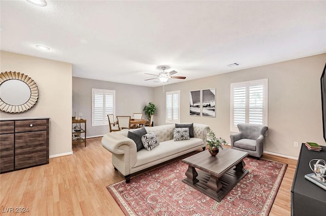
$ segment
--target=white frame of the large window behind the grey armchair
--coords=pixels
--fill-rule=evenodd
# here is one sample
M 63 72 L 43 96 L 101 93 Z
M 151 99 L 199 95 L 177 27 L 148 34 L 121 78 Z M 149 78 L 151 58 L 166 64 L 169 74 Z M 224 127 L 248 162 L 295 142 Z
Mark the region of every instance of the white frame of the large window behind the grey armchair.
M 230 84 L 230 131 L 239 132 L 237 126 L 234 126 L 234 89 L 237 87 L 246 88 L 246 124 L 249 123 L 249 90 L 251 86 L 263 85 L 263 108 L 262 108 L 262 125 L 268 126 L 268 79 L 250 80 Z

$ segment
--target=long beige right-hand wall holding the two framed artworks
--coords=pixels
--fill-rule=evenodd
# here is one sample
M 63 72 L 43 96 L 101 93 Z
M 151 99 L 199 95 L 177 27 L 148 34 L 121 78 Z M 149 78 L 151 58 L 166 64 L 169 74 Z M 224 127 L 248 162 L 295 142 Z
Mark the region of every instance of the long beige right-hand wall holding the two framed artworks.
M 230 84 L 268 79 L 268 136 L 264 150 L 298 157 L 302 142 L 326 145 L 322 134 L 320 76 L 326 54 L 285 61 L 233 73 L 166 85 L 166 91 L 180 90 L 180 122 L 209 125 L 216 136 L 230 142 Z M 216 88 L 216 117 L 189 116 L 189 91 Z M 156 125 L 165 122 L 165 94 L 156 87 Z M 298 142 L 299 147 L 294 147 Z

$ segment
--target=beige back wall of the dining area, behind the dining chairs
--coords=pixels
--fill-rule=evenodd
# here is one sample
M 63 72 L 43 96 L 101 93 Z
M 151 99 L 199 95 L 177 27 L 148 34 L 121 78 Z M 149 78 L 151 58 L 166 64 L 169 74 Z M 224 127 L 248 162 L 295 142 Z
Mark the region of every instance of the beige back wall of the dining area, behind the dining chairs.
M 108 126 L 92 127 L 92 88 L 116 91 L 116 115 L 144 113 L 144 106 L 154 100 L 151 87 L 73 77 L 72 112 L 87 119 L 87 137 L 101 136 L 109 130 Z M 146 118 L 145 113 L 143 116 Z

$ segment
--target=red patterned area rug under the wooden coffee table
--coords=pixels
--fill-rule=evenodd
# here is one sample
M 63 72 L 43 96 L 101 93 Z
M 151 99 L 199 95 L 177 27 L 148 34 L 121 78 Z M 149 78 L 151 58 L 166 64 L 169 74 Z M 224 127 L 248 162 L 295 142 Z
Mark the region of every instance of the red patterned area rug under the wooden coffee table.
M 183 183 L 187 165 L 175 161 L 107 186 L 126 215 L 268 215 L 287 164 L 245 158 L 248 174 L 216 202 Z

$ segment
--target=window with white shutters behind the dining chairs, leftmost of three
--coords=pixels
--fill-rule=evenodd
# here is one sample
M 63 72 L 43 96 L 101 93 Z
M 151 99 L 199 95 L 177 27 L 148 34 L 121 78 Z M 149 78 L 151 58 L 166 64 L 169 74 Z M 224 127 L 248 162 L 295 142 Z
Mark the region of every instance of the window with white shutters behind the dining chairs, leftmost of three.
M 115 90 L 92 88 L 92 126 L 108 125 L 107 114 L 115 114 L 115 100 Z

